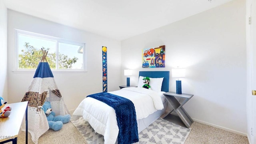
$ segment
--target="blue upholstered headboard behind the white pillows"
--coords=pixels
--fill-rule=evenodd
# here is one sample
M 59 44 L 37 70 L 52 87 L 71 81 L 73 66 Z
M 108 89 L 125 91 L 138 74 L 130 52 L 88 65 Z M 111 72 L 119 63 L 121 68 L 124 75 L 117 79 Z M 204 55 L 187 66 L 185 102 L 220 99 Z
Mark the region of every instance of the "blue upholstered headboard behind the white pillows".
M 148 76 L 150 78 L 164 78 L 162 83 L 162 91 L 169 92 L 169 71 L 140 71 L 139 76 Z

